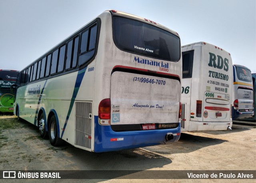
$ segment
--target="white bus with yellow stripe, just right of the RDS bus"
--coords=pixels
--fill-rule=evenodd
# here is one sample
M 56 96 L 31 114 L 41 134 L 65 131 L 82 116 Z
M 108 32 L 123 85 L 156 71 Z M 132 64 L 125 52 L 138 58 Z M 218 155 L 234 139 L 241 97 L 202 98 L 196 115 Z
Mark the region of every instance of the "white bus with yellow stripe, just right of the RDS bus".
M 233 66 L 232 119 L 246 119 L 253 115 L 253 84 L 249 68 Z

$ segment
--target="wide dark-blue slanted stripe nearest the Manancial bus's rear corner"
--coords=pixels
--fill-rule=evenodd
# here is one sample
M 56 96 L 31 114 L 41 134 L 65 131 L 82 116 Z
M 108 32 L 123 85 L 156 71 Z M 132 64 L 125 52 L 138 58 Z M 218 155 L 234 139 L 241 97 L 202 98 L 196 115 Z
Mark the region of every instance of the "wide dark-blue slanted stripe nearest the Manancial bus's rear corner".
M 73 91 L 72 99 L 70 101 L 70 105 L 69 105 L 69 109 L 68 109 L 68 114 L 67 114 L 66 121 L 65 121 L 64 127 L 62 129 L 62 133 L 61 133 L 61 137 L 60 138 L 62 138 L 62 136 L 64 134 L 64 131 L 65 131 L 66 125 L 68 123 L 68 119 L 69 119 L 70 113 L 72 111 L 72 108 L 73 108 L 73 105 L 74 105 L 74 102 L 75 102 L 75 99 L 76 99 L 76 95 L 77 95 L 78 90 L 79 90 L 79 88 L 81 86 L 81 82 L 82 82 L 82 80 L 84 78 L 84 74 L 86 72 L 86 69 L 87 69 L 87 67 L 82 69 L 82 70 L 80 70 L 80 71 L 78 71 L 78 74 L 77 74 L 77 77 L 76 77 L 75 88 L 74 88 L 74 91 Z

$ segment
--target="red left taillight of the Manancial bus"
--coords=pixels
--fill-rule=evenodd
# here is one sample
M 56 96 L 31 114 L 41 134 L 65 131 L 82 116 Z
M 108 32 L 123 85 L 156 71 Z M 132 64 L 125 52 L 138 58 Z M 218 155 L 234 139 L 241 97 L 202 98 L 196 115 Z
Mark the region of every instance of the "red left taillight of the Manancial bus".
M 102 101 L 100 101 L 98 117 L 99 117 L 99 123 L 101 125 L 110 125 L 110 111 L 111 111 L 110 98 L 103 99 Z

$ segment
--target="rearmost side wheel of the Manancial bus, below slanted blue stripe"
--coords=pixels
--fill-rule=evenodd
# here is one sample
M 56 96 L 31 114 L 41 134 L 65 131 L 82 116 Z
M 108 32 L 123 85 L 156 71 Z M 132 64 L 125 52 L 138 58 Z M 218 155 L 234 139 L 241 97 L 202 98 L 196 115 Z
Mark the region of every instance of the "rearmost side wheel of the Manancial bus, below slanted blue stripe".
M 58 137 L 57 121 L 55 115 L 50 118 L 49 139 L 53 146 L 62 145 L 63 140 Z

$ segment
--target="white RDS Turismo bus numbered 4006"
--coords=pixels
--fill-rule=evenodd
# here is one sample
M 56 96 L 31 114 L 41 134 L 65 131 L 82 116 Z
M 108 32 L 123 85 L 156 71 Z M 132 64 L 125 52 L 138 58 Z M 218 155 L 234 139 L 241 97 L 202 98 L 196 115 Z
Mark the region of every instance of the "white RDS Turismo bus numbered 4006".
M 182 63 L 181 131 L 231 129 L 230 54 L 197 42 L 182 46 Z

